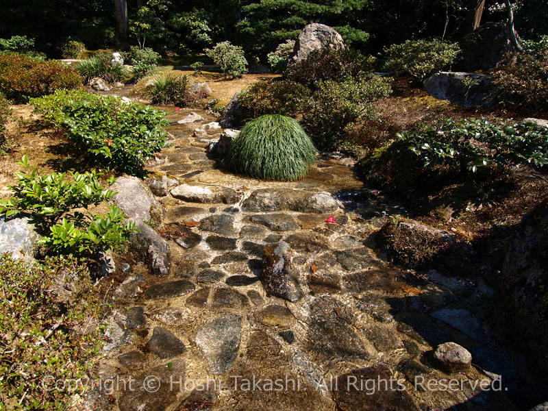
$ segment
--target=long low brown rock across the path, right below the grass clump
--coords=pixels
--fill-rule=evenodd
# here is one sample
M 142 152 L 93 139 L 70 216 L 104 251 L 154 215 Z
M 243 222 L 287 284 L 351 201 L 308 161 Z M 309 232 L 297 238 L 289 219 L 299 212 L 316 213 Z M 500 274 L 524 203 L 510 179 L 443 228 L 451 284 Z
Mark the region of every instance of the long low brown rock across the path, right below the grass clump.
M 338 209 L 338 201 L 326 192 L 305 192 L 287 189 L 262 188 L 255 190 L 242 203 L 249 212 L 292 210 L 323 213 Z

